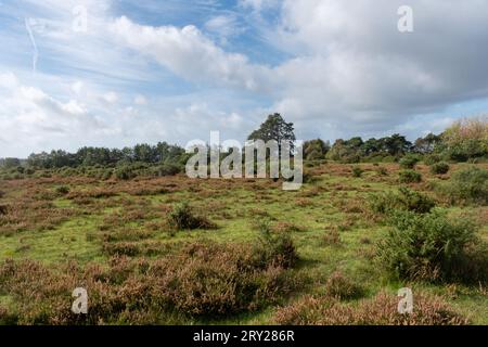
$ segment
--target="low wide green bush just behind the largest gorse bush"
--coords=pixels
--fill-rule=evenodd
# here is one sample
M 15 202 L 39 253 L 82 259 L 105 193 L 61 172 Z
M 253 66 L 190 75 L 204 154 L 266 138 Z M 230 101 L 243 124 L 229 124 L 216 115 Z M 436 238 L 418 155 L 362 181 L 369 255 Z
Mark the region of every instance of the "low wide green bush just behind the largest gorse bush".
M 376 214 L 390 214 L 396 209 L 410 210 L 418 214 L 429 213 L 436 203 L 418 191 L 400 188 L 398 193 L 373 195 L 370 201 L 371 209 Z

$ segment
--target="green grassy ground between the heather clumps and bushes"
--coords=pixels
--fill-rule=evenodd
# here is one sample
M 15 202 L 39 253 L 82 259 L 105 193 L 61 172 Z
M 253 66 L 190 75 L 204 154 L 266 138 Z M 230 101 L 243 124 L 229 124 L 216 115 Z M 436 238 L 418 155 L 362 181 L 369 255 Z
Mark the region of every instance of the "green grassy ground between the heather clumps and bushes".
M 103 250 L 104 235 L 119 235 L 125 232 L 124 228 L 142 234 L 141 240 L 130 241 L 136 247 L 153 242 L 178 248 L 202 240 L 246 243 L 259 234 L 256 220 L 267 219 L 271 229 L 285 229 L 282 232 L 293 239 L 299 260 L 288 271 L 303 279 L 304 285 L 283 295 L 281 303 L 252 312 L 218 319 L 192 318 L 180 323 L 269 324 L 280 307 L 293 305 L 304 295 L 323 295 L 330 277 L 341 272 L 361 284 L 362 298 L 354 300 L 372 298 L 381 291 L 395 293 L 401 286 L 411 285 L 414 294 L 419 287 L 445 296 L 449 305 L 468 316 L 473 323 L 488 324 L 488 297 L 475 286 L 464 287 L 460 295 L 452 296 L 447 285 L 395 282 L 378 270 L 374 253 L 376 244 L 386 235 L 387 227 L 381 218 L 373 218 L 362 202 L 372 194 L 397 192 L 400 169 L 397 164 L 384 164 L 385 170 L 378 175 L 373 165 L 361 164 L 359 167 L 363 171 L 361 177 L 354 177 L 349 165 L 322 165 L 313 170 L 317 179 L 297 192 L 282 191 L 281 183 L 271 180 L 190 180 L 181 176 L 129 181 L 87 178 L 0 181 L 0 191 L 5 192 L 2 204 L 13 205 L 21 201 L 26 208 L 23 214 L 17 211 L 17 222 L 26 226 L 22 231 L 3 234 L 2 229 L 10 230 L 10 227 L 0 224 L 0 261 L 28 259 L 51 268 L 61 268 L 67 260 L 80 266 L 93 262 L 107 266 L 110 256 Z M 460 167 L 452 165 L 448 175 Z M 441 178 L 431 174 L 427 166 L 418 165 L 416 169 L 424 181 L 410 184 L 410 188 L 433 194 L 429 183 L 440 182 Z M 68 187 L 69 193 L 51 195 L 50 192 L 55 192 L 60 185 Z M 106 194 L 108 191 L 111 193 Z M 31 217 L 28 208 L 43 203 L 52 204 L 43 217 L 49 228 L 39 230 L 36 223 L 41 217 Z M 196 215 L 216 223 L 218 229 L 168 232 L 168 216 L 182 203 L 189 203 Z M 470 206 L 450 206 L 440 197 L 438 203 L 439 208 L 452 214 L 474 210 Z M 60 218 L 64 210 L 70 213 Z M 55 218 L 50 219 L 51 215 Z M 476 207 L 476 215 L 487 216 L 488 207 Z M 480 236 L 488 240 L 488 218 L 481 217 Z M 283 228 L 283 223 L 294 228 Z M 338 232 L 341 240 L 334 245 L 323 243 L 331 229 Z M 155 260 L 159 257 L 141 254 L 133 258 Z M 15 307 L 15 298 L 0 293 L 1 306 Z

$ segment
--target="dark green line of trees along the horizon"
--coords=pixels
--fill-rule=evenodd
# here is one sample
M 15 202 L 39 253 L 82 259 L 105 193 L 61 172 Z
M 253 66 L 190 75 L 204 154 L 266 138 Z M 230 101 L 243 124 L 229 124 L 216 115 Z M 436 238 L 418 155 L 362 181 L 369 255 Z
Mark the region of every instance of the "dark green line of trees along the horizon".
M 275 113 L 254 130 L 248 140 L 283 140 L 294 141 L 293 123 L 286 123 Z M 363 140 L 354 137 L 348 140 L 337 139 L 331 145 L 321 139 L 304 143 L 304 158 L 306 160 L 330 159 L 341 163 L 360 162 L 397 162 L 407 154 L 426 156 L 434 162 L 451 160 L 466 162 L 473 159 L 488 159 L 488 118 L 471 118 L 454 123 L 440 134 L 429 133 L 410 142 L 399 133 L 380 139 Z M 156 145 L 137 144 L 133 147 L 106 149 L 85 146 L 76 153 L 63 150 L 31 154 L 26 160 L 18 158 L 0 159 L 3 168 L 27 166 L 37 169 L 77 168 L 77 167 L 116 167 L 133 163 L 168 164 L 183 167 L 189 155 L 184 149 L 158 142 Z

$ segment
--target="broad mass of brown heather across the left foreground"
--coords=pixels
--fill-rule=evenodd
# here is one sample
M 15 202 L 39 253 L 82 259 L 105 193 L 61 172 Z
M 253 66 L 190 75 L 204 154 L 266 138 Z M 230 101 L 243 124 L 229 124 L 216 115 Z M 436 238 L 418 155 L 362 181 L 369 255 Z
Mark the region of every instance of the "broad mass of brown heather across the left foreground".
M 117 256 L 107 267 L 8 260 L 0 265 L 0 293 L 9 293 L 15 311 L 1 309 L 0 322 L 181 324 L 255 311 L 281 303 L 300 285 L 280 266 L 293 262 L 288 245 L 268 247 L 196 242 L 157 259 Z M 70 311 L 72 292 L 79 286 L 89 294 L 88 314 Z

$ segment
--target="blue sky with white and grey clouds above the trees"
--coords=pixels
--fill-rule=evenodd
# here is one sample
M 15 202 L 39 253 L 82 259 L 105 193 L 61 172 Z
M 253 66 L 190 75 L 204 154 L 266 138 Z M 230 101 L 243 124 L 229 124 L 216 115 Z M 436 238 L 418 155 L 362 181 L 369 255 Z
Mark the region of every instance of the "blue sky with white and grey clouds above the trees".
M 275 112 L 414 140 L 486 114 L 487 62 L 486 0 L 0 0 L 0 157 L 244 141 Z

